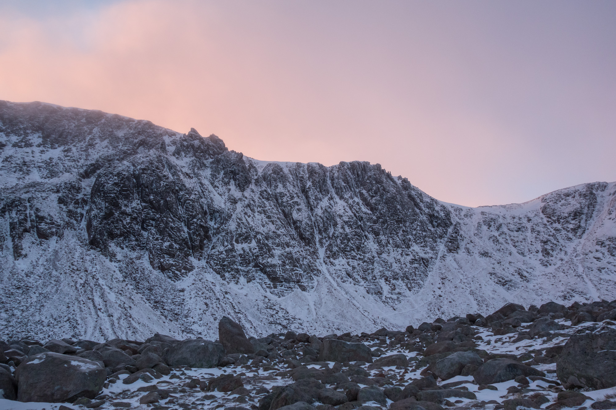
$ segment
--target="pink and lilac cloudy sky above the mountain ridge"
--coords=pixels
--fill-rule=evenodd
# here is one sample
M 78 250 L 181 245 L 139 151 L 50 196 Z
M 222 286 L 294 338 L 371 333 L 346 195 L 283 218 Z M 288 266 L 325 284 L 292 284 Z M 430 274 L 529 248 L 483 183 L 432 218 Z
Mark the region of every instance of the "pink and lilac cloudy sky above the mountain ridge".
M 0 0 L 0 99 L 521 203 L 616 180 L 616 2 Z

